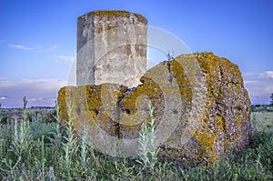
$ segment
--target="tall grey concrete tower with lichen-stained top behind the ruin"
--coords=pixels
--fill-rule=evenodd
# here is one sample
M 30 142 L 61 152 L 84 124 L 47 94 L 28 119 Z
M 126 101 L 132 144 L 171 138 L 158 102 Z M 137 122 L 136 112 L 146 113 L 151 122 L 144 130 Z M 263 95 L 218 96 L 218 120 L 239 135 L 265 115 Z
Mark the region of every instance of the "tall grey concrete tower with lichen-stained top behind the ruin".
M 77 19 L 76 85 L 139 85 L 147 71 L 147 19 L 94 11 Z

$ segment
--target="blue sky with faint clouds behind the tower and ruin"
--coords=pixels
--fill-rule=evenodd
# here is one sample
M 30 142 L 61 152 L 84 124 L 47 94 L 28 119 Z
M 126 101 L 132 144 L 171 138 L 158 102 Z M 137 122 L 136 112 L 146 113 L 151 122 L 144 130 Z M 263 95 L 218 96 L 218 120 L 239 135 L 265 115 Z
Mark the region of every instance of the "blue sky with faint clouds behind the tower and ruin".
M 0 0 L 0 104 L 53 106 L 76 59 L 76 18 L 121 9 L 147 17 L 192 52 L 237 64 L 252 104 L 273 93 L 273 1 Z

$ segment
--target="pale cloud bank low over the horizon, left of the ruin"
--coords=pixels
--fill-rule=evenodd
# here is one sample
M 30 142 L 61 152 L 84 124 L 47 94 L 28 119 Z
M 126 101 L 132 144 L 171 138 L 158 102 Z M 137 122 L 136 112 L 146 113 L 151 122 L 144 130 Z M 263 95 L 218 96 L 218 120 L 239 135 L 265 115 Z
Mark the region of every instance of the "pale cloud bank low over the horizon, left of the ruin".
M 5 101 L 2 102 L 5 107 L 20 107 L 25 96 L 29 101 L 28 106 L 54 106 L 57 92 L 63 86 L 66 86 L 66 81 L 56 78 L 0 80 L 0 93 L 3 95 L 0 101 Z

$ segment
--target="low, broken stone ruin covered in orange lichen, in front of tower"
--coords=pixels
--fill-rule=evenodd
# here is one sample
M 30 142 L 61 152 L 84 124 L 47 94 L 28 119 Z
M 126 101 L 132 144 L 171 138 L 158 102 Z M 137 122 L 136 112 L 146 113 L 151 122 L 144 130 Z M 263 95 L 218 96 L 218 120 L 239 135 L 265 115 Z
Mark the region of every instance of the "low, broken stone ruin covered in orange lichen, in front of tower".
M 250 102 L 238 65 L 207 52 L 180 55 L 151 68 L 140 81 L 136 88 L 117 84 L 61 88 L 58 101 L 64 123 L 70 104 L 79 135 L 88 127 L 89 141 L 99 145 L 96 148 L 115 152 L 113 146 L 105 146 L 116 138 L 125 142 L 126 154 L 134 155 L 137 144 L 129 140 L 137 140 L 141 123 L 149 120 L 151 102 L 161 159 L 212 163 L 248 146 L 253 134 Z M 105 145 L 98 143 L 101 140 Z

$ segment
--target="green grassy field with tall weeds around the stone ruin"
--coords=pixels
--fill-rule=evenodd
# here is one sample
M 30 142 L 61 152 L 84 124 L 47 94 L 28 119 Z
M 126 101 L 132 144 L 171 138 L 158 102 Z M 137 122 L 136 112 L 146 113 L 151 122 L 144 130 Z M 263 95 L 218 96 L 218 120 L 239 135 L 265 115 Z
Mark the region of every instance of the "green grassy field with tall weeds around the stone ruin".
M 159 162 L 145 146 L 138 157 L 105 156 L 86 145 L 86 136 L 73 136 L 71 121 L 62 128 L 56 112 L 20 111 L 19 121 L 0 120 L 0 180 L 273 180 L 272 112 L 252 113 L 258 132 L 248 149 L 205 166 Z M 150 132 L 142 126 L 139 141 Z

